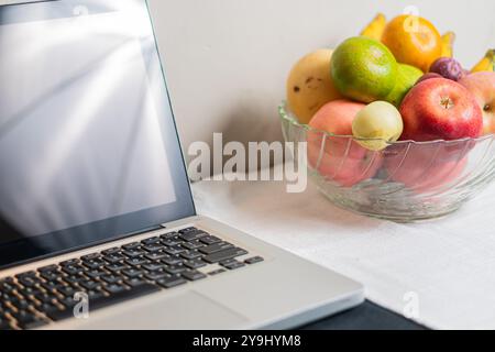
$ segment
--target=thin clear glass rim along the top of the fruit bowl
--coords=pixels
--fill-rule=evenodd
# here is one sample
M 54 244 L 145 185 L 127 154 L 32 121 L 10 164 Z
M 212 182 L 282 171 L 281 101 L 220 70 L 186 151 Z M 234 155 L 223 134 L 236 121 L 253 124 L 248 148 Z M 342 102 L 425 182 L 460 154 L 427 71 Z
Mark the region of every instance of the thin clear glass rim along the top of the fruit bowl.
M 383 143 L 386 143 L 387 146 L 404 145 L 404 144 L 415 144 L 415 145 L 435 145 L 435 144 L 440 144 L 440 143 L 454 144 L 454 143 L 462 143 L 462 142 L 477 143 L 477 142 L 493 139 L 493 136 L 495 135 L 493 133 L 490 133 L 490 134 L 481 135 L 479 138 L 463 138 L 463 139 L 458 139 L 458 140 L 432 140 L 432 141 L 404 140 L 404 141 L 391 142 L 391 141 L 387 141 L 384 139 L 364 139 L 364 138 L 355 138 L 353 135 L 346 135 L 346 134 L 336 134 L 336 133 L 327 132 L 323 130 L 314 129 L 309 124 L 299 123 L 295 119 L 295 116 L 293 114 L 293 112 L 289 110 L 286 100 L 282 100 L 280 105 L 278 106 L 278 116 L 282 121 L 286 121 L 298 129 L 305 130 L 306 132 L 311 131 L 311 132 L 321 133 L 321 134 L 323 134 L 326 136 L 330 136 L 330 138 L 345 138 L 345 139 L 352 139 L 354 141 L 383 142 Z M 292 116 L 294 116 L 294 118 Z

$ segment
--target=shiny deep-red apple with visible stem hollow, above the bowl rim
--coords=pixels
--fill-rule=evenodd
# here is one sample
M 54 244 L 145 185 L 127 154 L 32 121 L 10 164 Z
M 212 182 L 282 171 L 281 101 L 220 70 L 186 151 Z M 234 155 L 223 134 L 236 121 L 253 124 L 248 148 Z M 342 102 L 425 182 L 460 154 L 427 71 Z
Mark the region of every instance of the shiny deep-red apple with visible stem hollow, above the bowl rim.
M 462 85 L 446 78 L 421 81 L 400 105 L 402 140 L 432 141 L 477 138 L 483 117 L 474 96 Z

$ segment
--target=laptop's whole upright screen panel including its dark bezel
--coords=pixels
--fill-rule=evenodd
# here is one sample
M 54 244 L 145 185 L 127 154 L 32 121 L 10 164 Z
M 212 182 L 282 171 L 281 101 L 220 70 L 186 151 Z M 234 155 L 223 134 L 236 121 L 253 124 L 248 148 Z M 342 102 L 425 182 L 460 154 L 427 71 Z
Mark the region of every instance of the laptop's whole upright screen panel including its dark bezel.
M 195 213 L 144 0 L 0 8 L 0 266 Z

